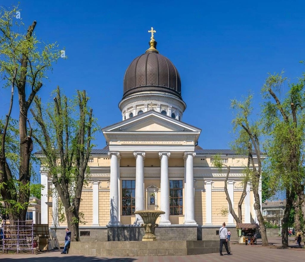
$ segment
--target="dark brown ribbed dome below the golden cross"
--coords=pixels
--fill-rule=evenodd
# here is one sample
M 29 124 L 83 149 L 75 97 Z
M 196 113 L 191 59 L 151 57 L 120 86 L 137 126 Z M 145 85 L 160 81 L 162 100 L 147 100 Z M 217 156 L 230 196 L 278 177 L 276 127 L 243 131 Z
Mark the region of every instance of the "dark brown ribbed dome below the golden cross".
M 123 99 L 143 91 L 161 91 L 182 99 L 177 68 L 157 52 L 147 50 L 131 62 L 124 76 Z

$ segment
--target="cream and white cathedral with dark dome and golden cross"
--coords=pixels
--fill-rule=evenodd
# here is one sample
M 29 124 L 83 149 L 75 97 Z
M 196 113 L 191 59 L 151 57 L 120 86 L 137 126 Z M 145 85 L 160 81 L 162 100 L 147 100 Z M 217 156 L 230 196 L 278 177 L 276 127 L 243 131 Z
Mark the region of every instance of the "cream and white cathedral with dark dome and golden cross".
M 81 240 L 126 240 L 128 231 L 143 223 L 135 215 L 137 210 L 165 212 L 156 229 L 163 239 L 175 238 L 169 230 L 173 227 L 181 238 L 197 240 L 206 235 L 218 239 L 223 222 L 236 226 L 231 214 L 224 212 L 228 210 L 226 166 L 231 167 L 227 188 L 237 212 L 248 156 L 198 145 L 201 129 L 183 119 L 186 101 L 178 70 L 156 49 L 156 31 L 151 28 L 149 32 L 149 48 L 131 62 L 124 75 L 119 102 L 122 120 L 102 128 L 107 145 L 91 151 L 90 176 L 82 190 L 80 211 L 86 224 L 80 224 Z M 222 170 L 214 167 L 215 156 L 221 158 Z M 58 196 L 48 195 L 52 182 L 43 169 L 41 184 L 45 185 L 41 223 L 52 227 L 59 223 L 51 216 L 52 209 L 58 208 Z M 248 184 L 242 204 L 244 223 L 257 223 L 253 204 Z M 59 223 L 59 228 L 65 227 Z

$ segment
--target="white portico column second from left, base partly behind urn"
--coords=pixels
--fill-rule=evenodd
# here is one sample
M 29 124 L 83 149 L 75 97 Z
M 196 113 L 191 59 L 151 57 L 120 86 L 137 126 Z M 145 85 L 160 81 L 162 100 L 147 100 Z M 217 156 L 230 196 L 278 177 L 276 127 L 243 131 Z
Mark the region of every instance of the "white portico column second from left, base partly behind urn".
M 134 152 L 135 168 L 135 211 L 144 210 L 144 157 L 145 152 Z M 140 215 L 135 216 L 135 224 L 142 224 Z

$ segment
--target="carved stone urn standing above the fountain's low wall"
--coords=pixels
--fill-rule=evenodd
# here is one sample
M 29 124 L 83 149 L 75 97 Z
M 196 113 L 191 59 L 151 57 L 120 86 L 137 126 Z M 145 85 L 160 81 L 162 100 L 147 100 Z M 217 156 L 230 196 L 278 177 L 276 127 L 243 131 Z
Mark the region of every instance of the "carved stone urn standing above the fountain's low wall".
M 139 210 L 135 211 L 135 214 L 140 215 L 144 222 L 141 224 L 141 227 L 145 229 L 142 241 L 156 240 L 155 228 L 159 226 L 156 224 L 156 220 L 160 215 L 165 214 L 165 212 L 160 210 Z

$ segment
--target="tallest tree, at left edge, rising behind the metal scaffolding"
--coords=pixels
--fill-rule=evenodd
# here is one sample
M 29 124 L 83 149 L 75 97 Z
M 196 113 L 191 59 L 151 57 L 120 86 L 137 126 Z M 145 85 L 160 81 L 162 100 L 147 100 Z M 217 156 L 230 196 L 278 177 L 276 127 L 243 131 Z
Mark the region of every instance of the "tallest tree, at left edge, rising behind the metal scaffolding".
M 8 111 L 0 121 L 0 194 L 10 221 L 24 221 L 30 196 L 32 128 L 27 118 L 34 96 L 46 72 L 60 57 L 55 44 L 44 45 L 35 35 L 34 21 L 23 35 L 24 24 L 16 19 L 18 7 L 0 7 L 0 75 L 3 88 L 11 87 Z M 18 98 L 14 97 L 15 89 Z M 19 119 L 11 118 L 17 99 Z

